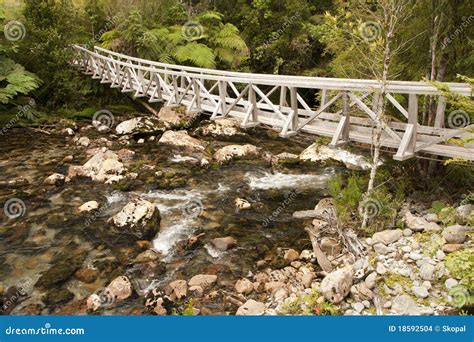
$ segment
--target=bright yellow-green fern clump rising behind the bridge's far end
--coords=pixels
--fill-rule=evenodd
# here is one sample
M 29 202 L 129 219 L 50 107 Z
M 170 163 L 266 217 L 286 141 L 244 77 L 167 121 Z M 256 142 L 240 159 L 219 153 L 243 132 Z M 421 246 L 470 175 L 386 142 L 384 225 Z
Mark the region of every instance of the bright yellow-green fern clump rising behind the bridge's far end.
M 237 27 L 223 23 L 223 15 L 218 12 L 205 11 L 185 22 L 178 17 L 172 25 L 147 21 L 136 9 L 123 15 L 124 20 L 116 28 L 102 35 L 105 48 L 203 68 L 232 68 L 247 54 Z

